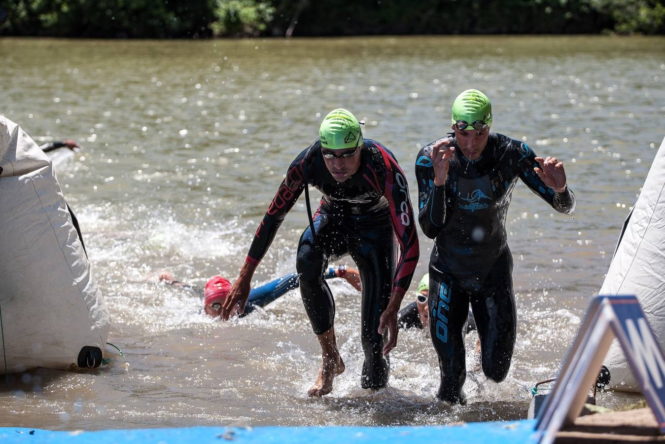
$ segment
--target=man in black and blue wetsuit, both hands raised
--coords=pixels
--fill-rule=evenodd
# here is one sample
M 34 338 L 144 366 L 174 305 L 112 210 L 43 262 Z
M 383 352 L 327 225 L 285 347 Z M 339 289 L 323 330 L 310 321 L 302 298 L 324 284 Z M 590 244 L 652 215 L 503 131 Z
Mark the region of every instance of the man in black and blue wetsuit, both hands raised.
M 476 90 L 455 100 L 450 136 L 418 153 L 420 227 L 436 239 L 430 258 L 430 333 L 439 357 L 438 397 L 465 403 L 464 335 L 469 302 L 489 379 L 507 375 L 516 335 L 513 258 L 505 216 L 517 178 L 558 212 L 575 196 L 563 163 L 537 157 L 527 144 L 489 132 L 491 105 Z

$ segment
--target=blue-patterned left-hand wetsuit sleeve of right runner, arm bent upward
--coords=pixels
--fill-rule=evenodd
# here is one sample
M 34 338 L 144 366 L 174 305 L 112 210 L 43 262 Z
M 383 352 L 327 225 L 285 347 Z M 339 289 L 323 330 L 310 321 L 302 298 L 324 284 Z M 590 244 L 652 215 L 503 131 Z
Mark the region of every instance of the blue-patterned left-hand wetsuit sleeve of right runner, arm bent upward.
M 430 239 L 436 238 L 446 220 L 446 186 L 434 186 L 431 148 L 422 148 L 416 160 L 418 223 Z

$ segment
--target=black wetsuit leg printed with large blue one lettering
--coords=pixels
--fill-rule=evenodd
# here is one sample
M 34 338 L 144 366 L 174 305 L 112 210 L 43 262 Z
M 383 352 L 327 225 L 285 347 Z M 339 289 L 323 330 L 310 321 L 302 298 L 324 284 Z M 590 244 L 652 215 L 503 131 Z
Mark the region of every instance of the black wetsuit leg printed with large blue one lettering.
M 466 403 L 462 386 L 466 380 L 464 335 L 469 313 L 469 294 L 452 276 L 430 261 L 430 336 L 439 359 L 441 384 L 437 396 L 450 403 Z

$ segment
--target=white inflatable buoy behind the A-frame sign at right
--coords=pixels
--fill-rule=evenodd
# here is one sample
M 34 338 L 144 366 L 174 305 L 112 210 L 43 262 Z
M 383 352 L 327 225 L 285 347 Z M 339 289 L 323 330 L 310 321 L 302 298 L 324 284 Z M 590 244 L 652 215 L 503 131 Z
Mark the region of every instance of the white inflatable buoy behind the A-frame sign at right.
M 665 343 L 665 138 L 646 176 L 642 192 L 624 224 L 599 294 L 634 294 L 663 347 Z M 604 361 L 610 388 L 640 391 L 616 339 Z

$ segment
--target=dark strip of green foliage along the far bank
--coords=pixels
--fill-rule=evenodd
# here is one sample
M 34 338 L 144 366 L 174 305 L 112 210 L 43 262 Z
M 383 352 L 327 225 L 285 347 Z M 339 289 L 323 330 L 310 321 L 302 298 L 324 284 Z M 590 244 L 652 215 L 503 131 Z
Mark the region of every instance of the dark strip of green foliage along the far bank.
M 294 21 L 297 17 L 297 21 Z M 0 35 L 663 34 L 662 0 L 0 0 Z

